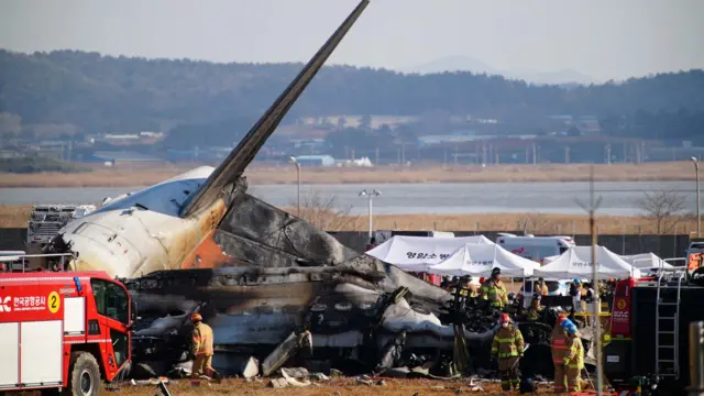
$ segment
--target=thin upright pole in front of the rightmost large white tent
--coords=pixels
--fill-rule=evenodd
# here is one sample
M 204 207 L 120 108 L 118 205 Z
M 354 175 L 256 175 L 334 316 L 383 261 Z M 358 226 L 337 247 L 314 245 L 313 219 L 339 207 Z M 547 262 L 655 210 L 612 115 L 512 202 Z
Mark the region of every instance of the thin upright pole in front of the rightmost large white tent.
M 592 288 L 598 290 L 598 258 L 596 256 L 596 219 L 595 212 L 598 209 L 598 206 L 602 204 L 602 197 L 594 200 L 594 164 L 590 166 L 590 206 L 585 206 L 578 200 L 578 205 L 580 205 L 584 210 L 590 213 L 590 230 L 592 233 Z M 601 318 L 598 316 L 598 308 L 602 304 L 598 293 L 596 293 L 594 301 L 594 309 L 592 315 L 594 315 L 594 321 L 596 326 L 594 328 L 594 341 L 595 346 L 594 358 L 596 359 L 596 393 L 597 395 L 602 395 L 604 391 L 604 364 L 602 362 L 602 323 Z

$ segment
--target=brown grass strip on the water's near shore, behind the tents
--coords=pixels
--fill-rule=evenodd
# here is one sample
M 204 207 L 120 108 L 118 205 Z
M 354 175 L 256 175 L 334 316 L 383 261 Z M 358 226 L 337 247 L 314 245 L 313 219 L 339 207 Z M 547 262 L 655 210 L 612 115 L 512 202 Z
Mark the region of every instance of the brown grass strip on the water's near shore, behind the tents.
M 311 204 L 314 205 L 314 204 Z M 24 228 L 31 205 L 0 205 L 0 228 Z M 296 213 L 295 207 L 284 210 Z M 316 208 L 301 205 L 301 218 L 328 231 L 366 231 L 365 216 L 349 216 L 345 210 Z M 503 215 L 378 215 L 374 217 L 376 230 L 438 230 L 438 231 L 516 231 L 571 235 L 588 233 L 586 216 L 503 213 Z M 656 222 L 641 217 L 597 217 L 601 234 L 657 233 Z M 683 218 L 671 233 L 684 234 L 696 230 L 696 221 Z

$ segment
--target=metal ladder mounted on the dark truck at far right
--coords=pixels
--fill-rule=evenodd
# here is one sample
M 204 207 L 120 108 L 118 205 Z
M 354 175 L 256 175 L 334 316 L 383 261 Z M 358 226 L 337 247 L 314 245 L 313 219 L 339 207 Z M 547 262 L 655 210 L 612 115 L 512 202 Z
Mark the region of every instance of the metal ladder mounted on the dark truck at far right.
M 656 375 L 680 377 L 680 293 L 686 272 L 658 276 L 656 301 Z M 675 284 L 676 282 L 676 284 Z

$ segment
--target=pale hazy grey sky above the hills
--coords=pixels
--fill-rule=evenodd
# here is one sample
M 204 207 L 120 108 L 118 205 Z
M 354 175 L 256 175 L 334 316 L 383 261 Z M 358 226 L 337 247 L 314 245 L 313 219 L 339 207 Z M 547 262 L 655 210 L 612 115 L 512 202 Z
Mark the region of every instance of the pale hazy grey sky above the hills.
M 356 0 L 1 0 L 0 47 L 306 62 Z M 329 63 L 469 56 L 595 79 L 704 67 L 703 0 L 372 0 Z

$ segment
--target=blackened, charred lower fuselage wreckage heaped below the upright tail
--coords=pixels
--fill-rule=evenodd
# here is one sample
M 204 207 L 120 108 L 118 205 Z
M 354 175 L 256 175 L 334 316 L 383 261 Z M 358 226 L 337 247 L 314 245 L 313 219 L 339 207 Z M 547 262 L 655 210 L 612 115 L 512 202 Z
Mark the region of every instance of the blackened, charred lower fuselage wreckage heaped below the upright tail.
M 250 356 L 262 362 L 263 375 L 283 364 L 320 362 L 345 373 L 429 362 L 428 374 L 437 376 L 492 370 L 499 312 L 485 300 L 452 295 L 359 254 L 252 196 L 238 201 L 212 237 L 219 252 L 209 253 L 222 257 L 217 267 L 197 268 L 195 257 L 191 268 L 125 280 L 140 312 L 133 375 L 168 374 L 191 359 L 189 317 L 196 311 L 213 328 L 213 365 L 224 375 L 240 374 Z M 519 326 L 534 345 L 525 365 L 549 375 L 551 327 Z

